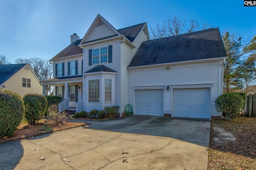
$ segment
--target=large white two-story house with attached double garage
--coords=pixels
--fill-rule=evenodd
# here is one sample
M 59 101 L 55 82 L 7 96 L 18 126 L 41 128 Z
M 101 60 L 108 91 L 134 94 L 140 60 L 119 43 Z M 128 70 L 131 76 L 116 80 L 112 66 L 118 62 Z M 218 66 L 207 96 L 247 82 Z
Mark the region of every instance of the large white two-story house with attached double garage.
M 136 115 L 218 116 L 226 51 L 218 28 L 149 40 L 146 23 L 116 30 L 98 15 L 50 61 L 54 85 L 78 111 L 127 104 Z M 68 99 L 68 100 L 67 100 Z

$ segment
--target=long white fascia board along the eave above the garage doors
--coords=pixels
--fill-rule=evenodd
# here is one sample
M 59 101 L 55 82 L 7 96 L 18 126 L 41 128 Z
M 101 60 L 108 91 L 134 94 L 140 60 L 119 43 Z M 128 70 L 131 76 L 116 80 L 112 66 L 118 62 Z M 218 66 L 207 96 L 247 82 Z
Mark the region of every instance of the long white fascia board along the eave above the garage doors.
M 158 66 L 171 66 L 171 65 L 179 65 L 179 64 L 190 64 L 190 63 L 200 63 L 206 61 L 217 61 L 228 58 L 228 57 L 216 57 L 216 58 L 208 58 L 208 59 L 196 59 L 196 60 L 188 60 L 188 61 L 178 61 L 172 63 L 161 63 L 161 64 L 152 64 L 152 65 L 140 65 L 135 67 L 127 67 L 127 69 L 138 69 L 138 68 L 150 68 L 150 67 L 158 67 Z

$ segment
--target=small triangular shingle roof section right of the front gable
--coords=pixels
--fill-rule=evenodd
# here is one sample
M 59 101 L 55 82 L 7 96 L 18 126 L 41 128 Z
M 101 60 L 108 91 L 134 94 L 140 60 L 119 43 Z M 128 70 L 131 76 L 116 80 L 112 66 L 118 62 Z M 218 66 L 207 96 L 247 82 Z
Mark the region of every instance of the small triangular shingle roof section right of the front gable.
M 117 31 L 120 32 L 120 34 L 126 36 L 130 42 L 133 42 L 145 24 L 146 22 L 126 28 L 121 28 Z

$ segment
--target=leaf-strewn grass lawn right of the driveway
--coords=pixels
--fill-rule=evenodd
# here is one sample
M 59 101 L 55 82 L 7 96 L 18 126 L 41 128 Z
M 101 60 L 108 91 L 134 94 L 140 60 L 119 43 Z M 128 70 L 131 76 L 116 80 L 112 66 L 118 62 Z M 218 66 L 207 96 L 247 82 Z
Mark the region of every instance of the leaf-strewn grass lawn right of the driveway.
M 233 134 L 235 141 L 214 142 L 217 135 L 214 127 Z M 216 117 L 211 120 L 208 170 L 256 170 L 256 118 L 236 117 L 227 121 Z

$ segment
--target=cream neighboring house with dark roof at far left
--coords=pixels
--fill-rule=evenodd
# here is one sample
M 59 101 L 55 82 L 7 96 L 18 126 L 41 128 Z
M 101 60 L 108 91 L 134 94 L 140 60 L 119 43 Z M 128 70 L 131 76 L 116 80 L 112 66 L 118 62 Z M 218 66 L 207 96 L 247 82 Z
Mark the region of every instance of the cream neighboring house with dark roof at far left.
M 0 65 L 0 88 L 18 93 L 42 94 L 43 87 L 28 64 Z

